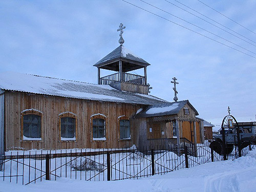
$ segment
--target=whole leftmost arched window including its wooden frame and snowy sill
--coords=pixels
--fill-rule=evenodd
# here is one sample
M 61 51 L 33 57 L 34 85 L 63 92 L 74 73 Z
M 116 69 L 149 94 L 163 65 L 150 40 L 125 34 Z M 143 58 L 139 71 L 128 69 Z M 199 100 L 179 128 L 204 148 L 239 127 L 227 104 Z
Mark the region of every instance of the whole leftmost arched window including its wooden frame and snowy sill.
M 41 132 L 42 113 L 34 109 L 24 110 L 21 126 L 22 141 L 41 141 Z

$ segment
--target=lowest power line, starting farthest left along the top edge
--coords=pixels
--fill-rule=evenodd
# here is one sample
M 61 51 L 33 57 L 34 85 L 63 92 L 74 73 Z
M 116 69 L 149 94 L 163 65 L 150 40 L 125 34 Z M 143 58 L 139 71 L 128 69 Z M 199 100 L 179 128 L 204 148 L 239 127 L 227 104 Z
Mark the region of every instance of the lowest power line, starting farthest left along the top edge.
M 247 55 L 247 56 L 250 56 L 250 57 L 253 57 L 253 58 L 256 59 L 256 57 L 254 57 L 254 56 L 252 56 L 252 55 L 249 55 L 249 54 L 247 54 L 247 53 L 245 53 L 245 52 L 243 52 L 243 51 L 240 51 L 240 50 L 238 50 L 238 49 L 236 49 L 236 48 L 233 48 L 233 47 L 231 47 L 231 46 L 228 46 L 228 45 L 226 45 L 226 44 L 223 44 L 222 42 L 220 42 L 220 41 L 218 41 L 218 40 L 215 40 L 215 39 L 213 39 L 213 38 L 210 38 L 210 37 L 208 37 L 208 36 L 206 36 L 206 35 L 203 35 L 203 34 L 201 34 L 201 33 L 199 33 L 199 32 L 196 32 L 196 31 L 194 31 L 194 30 L 192 30 L 192 29 L 189 29 L 189 28 L 187 28 L 187 27 L 184 27 L 184 26 L 182 26 L 182 25 L 180 25 L 180 24 L 177 24 L 177 23 L 173 22 L 172 20 L 169 20 L 169 19 L 167 19 L 167 18 L 165 18 L 165 17 L 162 17 L 162 16 L 160 16 L 160 15 L 158 15 L 158 14 L 156 14 L 156 13 L 153 13 L 153 12 L 151 12 L 151 11 L 148 11 L 148 10 L 146 10 L 146 9 L 143 9 L 143 8 L 141 8 L 141 7 L 137 6 L 137 5 L 134 5 L 134 4 L 130 3 L 130 2 L 126 2 L 125 0 L 121 0 L 121 1 L 123 1 L 123 2 L 125 2 L 125 3 L 127 3 L 127 4 L 130 4 L 130 5 L 132 5 L 132 6 L 135 6 L 135 7 L 139 8 L 139 9 L 141 9 L 141 10 L 143 10 L 143 11 L 146 11 L 146 12 L 148 12 L 148 13 L 151 13 L 151 14 L 153 14 L 153 15 L 155 15 L 155 16 L 158 16 L 158 17 L 160 17 L 160 18 L 162 18 L 162 19 L 165 19 L 165 20 L 167 20 L 168 22 L 173 23 L 173 24 L 175 24 L 175 25 L 178 25 L 178 26 L 180 26 L 180 27 L 182 27 L 182 28 L 184 28 L 184 29 L 187 29 L 187 30 L 189 30 L 189 31 L 192 31 L 192 32 L 194 32 L 194 33 L 197 33 L 197 34 L 199 34 L 199 35 L 201 35 L 201 36 L 204 36 L 204 37 L 206 37 L 206 38 L 208 38 L 208 39 L 211 39 L 211 40 L 213 40 L 213 41 L 215 41 L 215 42 L 218 42 L 218 43 L 221 44 L 221 45 L 224 45 L 224 46 L 226 46 L 226 47 L 228 47 L 228 48 L 231 48 L 231 49 L 233 49 L 233 50 L 236 50 L 236 51 L 238 51 L 238 52 L 240 52 L 240 53 L 243 53 L 243 54 L 245 54 L 245 55 Z

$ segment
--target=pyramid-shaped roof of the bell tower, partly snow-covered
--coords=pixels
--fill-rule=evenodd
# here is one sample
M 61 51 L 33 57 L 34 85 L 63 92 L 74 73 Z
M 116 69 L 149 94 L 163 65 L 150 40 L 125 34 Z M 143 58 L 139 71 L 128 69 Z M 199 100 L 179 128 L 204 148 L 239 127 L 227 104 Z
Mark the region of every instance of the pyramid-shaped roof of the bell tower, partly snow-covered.
M 150 65 L 150 63 L 146 62 L 144 59 L 135 55 L 129 49 L 126 49 L 124 46 L 119 46 L 114 51 L 112 51 L 110 54 L 108 54 L 105 57 L 103 57 L 102 59 L 100 59 L 94 66 L 98 67 L 102 63 L 109 62 L 109 61 L 117 59 L 117 58 L 124 58 L 127 60 L 136 61 L 139 63 L 143 63 L 146 66 Z

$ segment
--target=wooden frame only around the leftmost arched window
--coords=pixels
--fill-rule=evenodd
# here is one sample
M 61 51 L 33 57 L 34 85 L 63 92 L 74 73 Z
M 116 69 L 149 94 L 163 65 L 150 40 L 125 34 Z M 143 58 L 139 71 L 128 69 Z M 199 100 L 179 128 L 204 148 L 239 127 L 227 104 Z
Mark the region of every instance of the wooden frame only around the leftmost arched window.
M 40 117 L 40 132 L 41 132 L 41 137 L 39 138 L 31 138 L 29 140 L 27 139 L 24 139 L 24 133 L 23 133 L 23 130 L 24 130 L 24 116 L 25 115 L 37 115 Z M 24 110 L 21 112 L 21 118 L 20 118 L 20 138 L 21 138 L 21 141 L 22 142 L 43 142 L 44 141 L 44 118 L 43 118 L 43 114 L 42 112 L 38 111 L 38 110 L 35 110 L 35 109 L 27 109 L 27 110 Z

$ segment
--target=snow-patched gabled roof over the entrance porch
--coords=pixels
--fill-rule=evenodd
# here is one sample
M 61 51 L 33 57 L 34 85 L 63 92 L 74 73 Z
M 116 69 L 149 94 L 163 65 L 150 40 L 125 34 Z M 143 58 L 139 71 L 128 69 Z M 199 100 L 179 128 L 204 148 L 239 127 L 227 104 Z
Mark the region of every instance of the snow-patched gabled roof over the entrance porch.
M 168 102 L 161 104 L 154 104 L 147 106 L 145 109 L 140 111 L 135 115 L 136 118 L 141 117 L 156 117 L 163 115 L 176 115 L 184 108 L 185 104 L 188 104 L 198 115 L 197 110 L 189 103 L 188 100 L 177 101 L 177 102 Z

